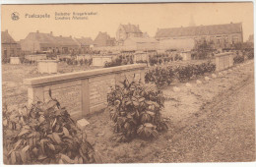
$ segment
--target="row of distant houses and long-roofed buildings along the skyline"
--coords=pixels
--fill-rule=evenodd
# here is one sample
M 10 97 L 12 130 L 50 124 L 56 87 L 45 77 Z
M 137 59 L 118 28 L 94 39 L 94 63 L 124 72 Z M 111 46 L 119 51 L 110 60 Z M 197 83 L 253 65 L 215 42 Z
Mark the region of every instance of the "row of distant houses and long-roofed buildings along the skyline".
M 90 37 L 54 36 L 52 32 L 30 32 L 25 39 L 16 42 L 2 31 L 2 55 L 25 52 L 53 52 L 57 54 L 84 53 L 90 48 L 96 50 L 191 50 L 196 43 L 207 41 L 215 48 L 230 47 L 243 41 L 242 24 L 225 24 L 187 28 L 159 28 L 155 38 L 143 32 L 138 25 L 120 25 L 116 38 L 107 32 L 98 32 L 96 39 Z

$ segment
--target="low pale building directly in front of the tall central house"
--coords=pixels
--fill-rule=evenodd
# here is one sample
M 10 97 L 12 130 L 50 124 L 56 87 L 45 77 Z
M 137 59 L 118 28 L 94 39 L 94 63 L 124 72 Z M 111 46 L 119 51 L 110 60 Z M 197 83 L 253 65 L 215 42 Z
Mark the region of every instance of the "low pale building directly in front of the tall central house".
M 125 50 L 158 50 L 159 41 L 151 37 L 129 37 L 124 40 L 123 48 Z

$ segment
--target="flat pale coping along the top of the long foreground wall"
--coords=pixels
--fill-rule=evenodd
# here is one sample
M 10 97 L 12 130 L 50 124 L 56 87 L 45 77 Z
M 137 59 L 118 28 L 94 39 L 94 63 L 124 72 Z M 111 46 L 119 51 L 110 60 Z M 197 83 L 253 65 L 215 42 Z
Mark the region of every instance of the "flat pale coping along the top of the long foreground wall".
M 52 83 L 63 83 L 63 82 L 70 82 L 70 81 L 76 81 L 76 80 L 83 80 L 83 79 L 88 79 L 96 76 L 104 76 L 107 74 L 120 73 L 120 72 L 130 71 L 130 70 L 145 69 L 146 67 L 147 65 L 145 64 L 132 64 L 132 65 L 125 65 L 125 66 L 111 67 L 111 68 L 100 68 L 100 69 L 90 70 L 90 71 L 82 71 L 82 72 L 74 72 L 74 73 L 66 73 L 66 74 L 60 74 L 60 75 L 25 79 L 24 84 L 35 87 L 35 86 L 41 86 L 41 85 L 48 85 Z

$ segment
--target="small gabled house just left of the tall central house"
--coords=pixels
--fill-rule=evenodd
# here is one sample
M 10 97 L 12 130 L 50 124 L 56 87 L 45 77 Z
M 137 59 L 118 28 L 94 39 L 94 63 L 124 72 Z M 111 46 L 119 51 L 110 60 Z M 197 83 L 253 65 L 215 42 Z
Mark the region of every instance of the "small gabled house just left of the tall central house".
M 110 37 L 106 32 L 99 31 L 94 41 L 95 47 L 114 46 L 115 38 Z

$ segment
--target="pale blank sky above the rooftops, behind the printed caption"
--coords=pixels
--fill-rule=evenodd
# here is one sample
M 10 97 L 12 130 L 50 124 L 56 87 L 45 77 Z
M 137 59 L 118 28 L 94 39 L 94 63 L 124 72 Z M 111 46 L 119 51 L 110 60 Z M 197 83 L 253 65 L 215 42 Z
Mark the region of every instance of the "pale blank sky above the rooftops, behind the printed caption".
M 14 12 L 19 14 L 18 21 L 11 19 Z M 55 20 L 55 12 L 93 12 L 96 15 L 88 16 L 88 20 Z M 115 37 L 119 25 L 128 23 L 139 25 L 142 31 L 155 36 L 158 28 L 189 26 L 191 16 L 196 26 L 242 23 L 244 40 L 253 33 L 252 3 L 2 5 L 1 13 L 2 30 L 8 29 L 15 40 L 36 30 L 93 39 L 98 31 L 106 31 Z M 26 14 L 47 14 L 50 18 L 25 18 Z

